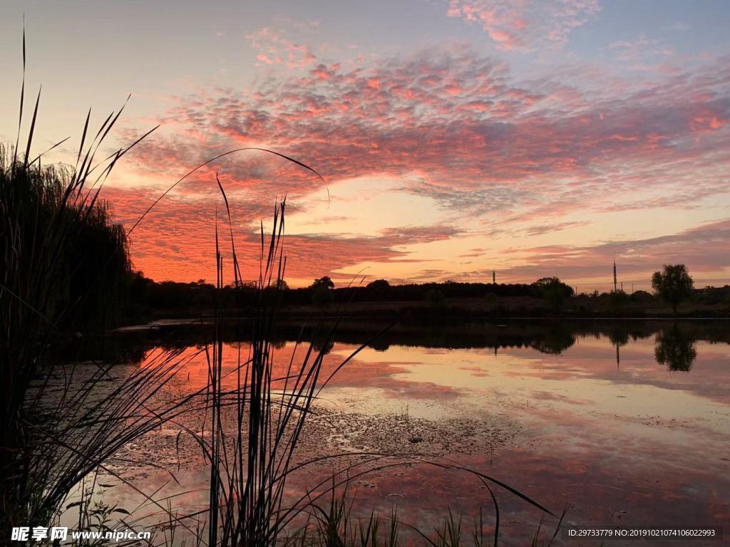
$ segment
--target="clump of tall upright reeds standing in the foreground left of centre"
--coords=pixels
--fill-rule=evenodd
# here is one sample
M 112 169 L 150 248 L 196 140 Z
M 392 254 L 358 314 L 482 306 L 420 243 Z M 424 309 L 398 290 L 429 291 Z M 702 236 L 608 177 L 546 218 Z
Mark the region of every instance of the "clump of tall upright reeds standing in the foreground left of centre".
M 220 182 L 218 184 L 226 200 L 234 278 L 238 280 L 239 263 L 228 201 Z M 274 375 L 272 340 L 275 338 L 277 304 L 286 263 L 283 255 L 284 219 L 285 201 L 282 201 L 274 210 L 268 242 L 261 229 L 257 282 L 259 300 L 255 306 L 250 355 L 246 360 L 239 357 L 233 394 L 226 394 L 222 389 L 223 343 L 220 333 L 223 333 L 224 319 L 220 302 L 216 309 L 216 337 L 209 360 L 211 434 L 208 454 L 211 473 L 208 545 L 274 545 L 285 532 L 291 513 L 299 511 L 298 508 L 283 508 L 285 485 L 304 422 L 318 390 L 326 382 L 326 379 L 320 381 L 320 376 L 334 327 L 323 333 L 323 343 L 319 328 L 315 329 L 310 341 L 298 341 L 296 346 L 306 346 L 304 357 L 295 362 L 295 346 L 285 375 Z M 220 294 L 225 282 L 223 260 L 218 249 L 216 232 Z M 238 287 L 239 283 L 235 286 Z M 319 343 L 315 344 L 318 338 Z M 364 347 L 365 344 L 347 360 Z M 226 433 L 220 414 L 220 409 L 228 403 L 225 397 L 232 398 L 230 402 L 235 410 L 235 427 L 231 435 Z

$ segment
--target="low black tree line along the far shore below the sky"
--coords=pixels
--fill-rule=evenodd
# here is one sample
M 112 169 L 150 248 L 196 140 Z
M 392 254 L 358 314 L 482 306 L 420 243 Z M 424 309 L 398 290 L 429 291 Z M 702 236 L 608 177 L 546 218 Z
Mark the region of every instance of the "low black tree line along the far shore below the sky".
M 622 290 L 609 293 L 588 295 L 588 298 L 607 300 L 611 306 L 620 307 L 624 303 L 647 303 L 659 299 L 671 306 L 676 313 L 678 306 L 685 300 L 714 300 L 707 303 L 730 302 L 730 287 L 694 290 L 694 282 L 683 264 L 665 265 L 661 271 L 653 274 L 652 286 L 654 295 L 645 291 L 637 291 L 628 295 Z M 238 290 L 237 290 L 238 289 Z M 714 291 L 714 292 L 711 292 Z M 279 282 L 278 287 L 268 287 L 267 292 L 276 293 L 277 302 L 283 306 L 315 306 L 327 308 L 334 303 L 427 303 L 429 306 L 444 306 L 448 300 L 479 299 L 486 306 L 497 306 L 504 299 L 522 298 L 526 302 L 542 303 L 553 312 L 562 311 L 572 298 L 577 296 L 575 290 L 555 276 L 542 277 L 532 283 L 477 283 L 477 282 L 429 282 L 391 284 L 386 279 L 375 279 L 366 284 L 337 287 L 329 276 L 312 281 L 308 287 L 291 288 L 286 282 Z M 223 306 L 227 309 L 245 308 L 255 305 L 260 290 L 255 283 L 239 283 L 223 287 Z M 717 293 L 717 294 L 715 294 Z M 130 284 L 131 306 L 137 312 L 145 310 L 164 311 L 170 309 L 209 309 L 215 298 L 215 287 L 203 279 L 197 282 L 154 282 L 146 278 L 142 272 L 134 274 Z

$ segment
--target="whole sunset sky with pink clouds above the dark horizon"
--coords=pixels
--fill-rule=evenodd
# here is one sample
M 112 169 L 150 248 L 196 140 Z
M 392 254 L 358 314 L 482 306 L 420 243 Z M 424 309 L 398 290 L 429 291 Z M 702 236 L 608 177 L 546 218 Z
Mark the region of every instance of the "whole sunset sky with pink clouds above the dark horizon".
M 4 1 L 0 141 L 23 18 L 34 151 L 70 137 L 48 163 L 74 163 L 90 106 L 99 126 L 131 93 L 102 152 L 160 125 L 101 190 L 127 228 L 228 150 L 325 179 L 252 151 L 196 171 L 131 233 L 155 280 L 215 280 L 217 174 L 246 279 L 285 197 L 293 286 L 496 271 L 590 292 L 613 260 L 626 290 L 665 263 L 730 282 L 726 1 Z

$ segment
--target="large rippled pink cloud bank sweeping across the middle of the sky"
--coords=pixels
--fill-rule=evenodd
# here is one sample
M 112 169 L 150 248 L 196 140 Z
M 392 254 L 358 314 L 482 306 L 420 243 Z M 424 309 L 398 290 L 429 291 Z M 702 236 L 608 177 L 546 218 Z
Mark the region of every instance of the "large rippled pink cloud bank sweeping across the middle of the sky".
M 252 89 L 176 98 L 162 120 L 166 132 L 131 153 L 135 168 L 140 176 L 156 178 L 234 147 L 264 145 L 306 161 L 333 188 L 361 176 L 400 179 L 399 191 L 481 220 L 485 238 L 495 230 L 530 237 L 575 228 L 580 221 L 566 218 L 575 212 L 692 209 L 728 192 L 727 59 L 651 81 L 572 66 L 527 82 L 512 77 L 501 61 L 462 47 L 378 61 L 358 69 L 318 64 L 304 75 L 266 79 Z M 192 276 L 185 263 L 210 248 L 220 201 L 216 171 L 237 208 L 241 233 L 250 234 L 259 218 L 269 216 L 276 196 L 288 195 L 291 206 L 299 206 L 305 195 L 324 194 L 315 177 L 278 158 L 258 152 L 228 156 L 180 185 L 161 203 L 165 210 L 158 220 L 150 217 L 149 238 L 137 235 L 133 247 L 143 269 L 164 278 L 204 277 Z M 654 197 L 629 199 L 637 192 Z M 142 198 L 137 190 L 113 195 L 128 203 L 115 206 L 125 215 L 135 207 L 144 210 L 131 203 Z M 297 260 L 290 264 L 310 277 L 317 266 L 312 257 L 321 255 L 326 258 L 318 274 L 335 275 L 364 261 L 410 260 L 399 246 L 423 237 L 460 235 L 438 225 L 414 231 L 393 222 L 392 230 L 374 237 L 293 236 L 288 249 Z M 526 230 L 525 222 L 533 228 Z M 188 223 L 199 243 L 171 251 L 185 241 Z M 147 239 L 156 244 L 144 243 Z M 668 248 L 666 242 L 652 244 Z M 535 260 L 542 252 L 546 249 L 535 250 Z M 591 264 L 581 254 L 585 249 L 558 252 L 566 253 L 565 260 Z M 175 257 L 174 271 L 162 265 L 167 255 Z M 569 268 L 567 262 L 550 262 L 550 252 L 545 257 L 546 264 Z M 594 268 L 603 260 L 600 253 L 588 258 L 595 258 Z M 515 276 L 537 269 L 536 263 Z

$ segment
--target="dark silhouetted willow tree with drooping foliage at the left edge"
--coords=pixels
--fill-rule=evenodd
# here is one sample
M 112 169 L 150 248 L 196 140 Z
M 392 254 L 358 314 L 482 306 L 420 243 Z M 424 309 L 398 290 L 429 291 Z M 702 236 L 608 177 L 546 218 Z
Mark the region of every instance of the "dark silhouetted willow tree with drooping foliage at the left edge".
M 134 279 L 128 239 L 105 201 L 68 190 L 71 179 L 69 168 L 26 165 L 0 144 L 0 300 L 13 295 L 64 330 L 104 330 L 118 323 Z M 26 294 L 46 267 L 53 281 Z

